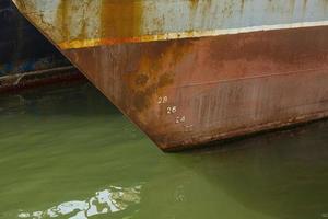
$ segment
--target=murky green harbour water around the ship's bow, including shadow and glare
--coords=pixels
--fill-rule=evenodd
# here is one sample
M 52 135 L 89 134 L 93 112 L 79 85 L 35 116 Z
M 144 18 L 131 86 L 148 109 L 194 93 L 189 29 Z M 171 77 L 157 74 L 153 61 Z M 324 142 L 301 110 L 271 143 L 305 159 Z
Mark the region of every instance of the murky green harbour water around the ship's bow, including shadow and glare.
M 166 154 L 87 83 L 2 95 L 0 218 L 325 219 L 328 122 Z

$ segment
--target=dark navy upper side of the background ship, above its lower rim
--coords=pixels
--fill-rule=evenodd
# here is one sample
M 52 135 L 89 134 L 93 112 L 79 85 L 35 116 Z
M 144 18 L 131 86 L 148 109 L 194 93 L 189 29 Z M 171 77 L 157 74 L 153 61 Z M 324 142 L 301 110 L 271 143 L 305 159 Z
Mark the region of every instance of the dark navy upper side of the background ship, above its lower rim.
M 10 0 L 0 0 L 0 77 L 63 66 L 71 65 Z

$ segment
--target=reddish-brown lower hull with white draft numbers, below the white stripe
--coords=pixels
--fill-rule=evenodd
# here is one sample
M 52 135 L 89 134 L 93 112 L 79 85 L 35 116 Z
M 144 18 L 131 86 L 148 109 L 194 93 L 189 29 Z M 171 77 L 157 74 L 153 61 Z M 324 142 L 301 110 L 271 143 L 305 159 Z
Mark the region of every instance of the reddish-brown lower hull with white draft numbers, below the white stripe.
M 328 115 L 328 27 L 63 54 L 163 150 Z

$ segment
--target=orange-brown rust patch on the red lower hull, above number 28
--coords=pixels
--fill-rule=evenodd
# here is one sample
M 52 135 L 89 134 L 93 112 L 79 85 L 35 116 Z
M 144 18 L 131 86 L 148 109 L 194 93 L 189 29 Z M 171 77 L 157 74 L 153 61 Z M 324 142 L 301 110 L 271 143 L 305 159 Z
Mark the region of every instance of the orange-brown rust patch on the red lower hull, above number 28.
M 191 48 L 188 43 L 152 44 L 156 46 L 141 49 L 140 57 L 137 58 L 137 71 L 124 74 L 126 93 L 133 100 L 132 106 L 128 107 L 140 118 L 144 117 L 141 120 L 148 116 L 148 110 L 152 110 L 157 103 L 156 94 L 174 84 L 175 73 L 172 69 Z

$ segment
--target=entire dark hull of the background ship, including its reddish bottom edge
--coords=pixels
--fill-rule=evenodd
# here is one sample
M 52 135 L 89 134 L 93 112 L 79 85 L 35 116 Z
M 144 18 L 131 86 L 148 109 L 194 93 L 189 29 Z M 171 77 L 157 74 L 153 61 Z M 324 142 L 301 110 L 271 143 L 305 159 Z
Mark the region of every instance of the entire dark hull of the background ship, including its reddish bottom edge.
M 0 92 L 72 76 L 70 62 L 10 0 L 0 2 Z

